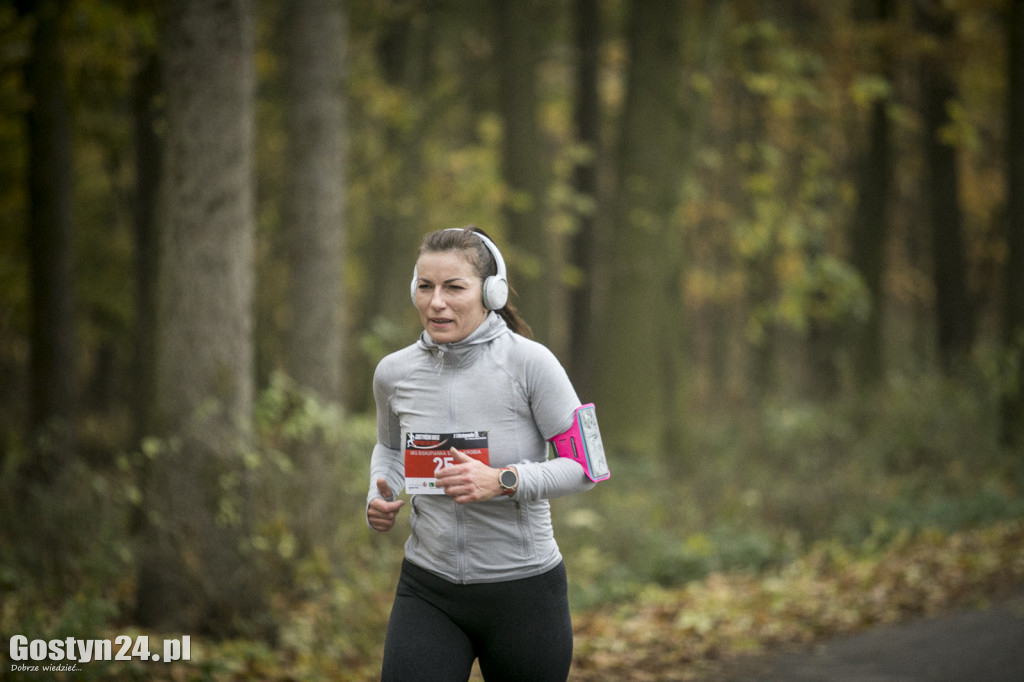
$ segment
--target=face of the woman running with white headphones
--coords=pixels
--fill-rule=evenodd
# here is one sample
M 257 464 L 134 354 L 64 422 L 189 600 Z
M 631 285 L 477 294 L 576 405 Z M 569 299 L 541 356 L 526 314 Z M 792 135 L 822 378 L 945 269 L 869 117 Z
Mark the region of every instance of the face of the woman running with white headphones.
M 465 252 L 425 253 L 416 269 L 416 308 L 435 343 L 462 341 L 487 316 L 482 283 Z

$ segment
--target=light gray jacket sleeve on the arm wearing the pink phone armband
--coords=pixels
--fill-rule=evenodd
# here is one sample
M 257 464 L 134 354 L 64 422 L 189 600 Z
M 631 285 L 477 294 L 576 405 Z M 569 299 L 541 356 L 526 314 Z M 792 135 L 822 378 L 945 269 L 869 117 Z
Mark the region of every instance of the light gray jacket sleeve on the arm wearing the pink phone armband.
M 572 425 L 572 415 L 580 407 L 572 382 L 565 369 L 545 346 L 532 343 L 524 365 L 524 382 L 534 421 L 545 440 L 563 433 Z M 560 498 L 594 487 L 583 467 L 572 460 L 555 458 L 516 464 L 519 489 L 516 500 L 524 502 Z

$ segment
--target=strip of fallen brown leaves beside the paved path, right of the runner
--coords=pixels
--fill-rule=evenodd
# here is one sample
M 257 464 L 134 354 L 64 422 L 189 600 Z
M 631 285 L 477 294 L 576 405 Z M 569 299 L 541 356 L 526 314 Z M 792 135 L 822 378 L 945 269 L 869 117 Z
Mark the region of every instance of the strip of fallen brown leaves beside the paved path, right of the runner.
M 575 617 L 572 679 L 694 680 L 723 662 L 984 604 L 1024 585 L 1024 521 L 903 537 L 854 554 L 822 545 L 767 574 L 712 574 Z

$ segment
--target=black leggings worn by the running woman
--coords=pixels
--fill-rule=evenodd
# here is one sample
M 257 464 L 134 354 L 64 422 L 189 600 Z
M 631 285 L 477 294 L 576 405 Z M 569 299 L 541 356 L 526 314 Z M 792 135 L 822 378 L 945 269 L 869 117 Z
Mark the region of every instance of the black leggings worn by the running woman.
M 382 682 L 564 682 L 572 662 L 565 565 L 502 583 L 456 585 L 402 561 Z

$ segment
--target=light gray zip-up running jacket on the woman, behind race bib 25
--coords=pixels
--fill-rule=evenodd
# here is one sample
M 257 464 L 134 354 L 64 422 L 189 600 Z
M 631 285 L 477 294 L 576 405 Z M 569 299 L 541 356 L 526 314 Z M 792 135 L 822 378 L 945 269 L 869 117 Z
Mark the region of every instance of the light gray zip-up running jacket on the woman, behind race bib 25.
M 462 341 L 436 344 L 424 332 L 382 359 L 374 398 L 368 506 L 380 497 L 378 478 L 404 487 L 408 432 L 487 431 L 490 466 L 519 473 L 511 498 L 459 505 L 445 495 L 412 496 L 407 559 L 460 584 L 529 578 L 561 561 L 548 500 L 594 483 L 572 460 L 548 460 L 547 440 L 569 428 L 580 407 L 550 350 L 492 312 Z

